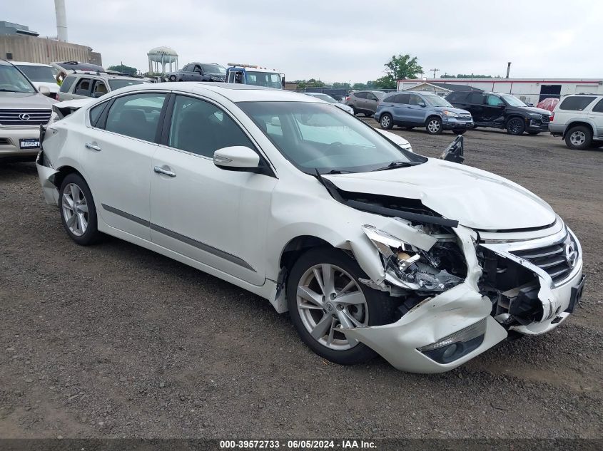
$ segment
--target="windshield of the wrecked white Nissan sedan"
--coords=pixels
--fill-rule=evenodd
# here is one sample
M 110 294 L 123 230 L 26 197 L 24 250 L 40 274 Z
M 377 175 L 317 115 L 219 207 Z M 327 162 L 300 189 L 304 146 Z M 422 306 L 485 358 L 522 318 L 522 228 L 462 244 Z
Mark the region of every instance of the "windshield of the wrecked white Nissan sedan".
M 308 174 L 367 172 L 392 162 L 424 162 L 369 125 L 324 103 L 241 102 L 275 147 Z

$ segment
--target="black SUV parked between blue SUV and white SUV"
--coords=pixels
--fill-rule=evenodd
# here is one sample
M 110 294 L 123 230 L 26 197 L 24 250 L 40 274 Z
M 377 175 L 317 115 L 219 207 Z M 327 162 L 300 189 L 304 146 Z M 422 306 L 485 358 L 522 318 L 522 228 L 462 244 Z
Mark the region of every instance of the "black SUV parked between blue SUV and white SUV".
M 551 113 L 527 106 L 511 94 L 456 91 L 446 96 L 452 105 L 471 113 L 475 127 L 504 128 L 510 135 L 537 135 L 549 130 Z

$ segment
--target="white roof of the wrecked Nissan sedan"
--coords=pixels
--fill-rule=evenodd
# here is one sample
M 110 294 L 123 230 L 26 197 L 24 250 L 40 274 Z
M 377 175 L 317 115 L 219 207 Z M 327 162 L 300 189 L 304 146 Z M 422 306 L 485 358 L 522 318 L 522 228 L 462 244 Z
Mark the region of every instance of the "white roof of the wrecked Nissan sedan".
M 143 83 L 121 88 L 120 93 L 142 90 L 174 90 L 193 94 L 211 91 L 232 102 L 322 102 L 309 95 L 292 91 L 264 88 L 263 86 L 243 85 L 239 83 L 209 83 L 206 81 L 173 81 L 166 83 Z

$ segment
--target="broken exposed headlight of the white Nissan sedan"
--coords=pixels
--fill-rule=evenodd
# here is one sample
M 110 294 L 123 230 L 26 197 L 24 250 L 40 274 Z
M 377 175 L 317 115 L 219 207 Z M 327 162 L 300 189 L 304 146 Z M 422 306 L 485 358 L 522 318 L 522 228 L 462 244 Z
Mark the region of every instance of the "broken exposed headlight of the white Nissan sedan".
M 385 280 L 391 284 L 440 292 L 464 280 L 467 267 L 454 236 L 438 239 L 425 251 L 370 225 L 363 226 L 363 231 L 381 254 Z

